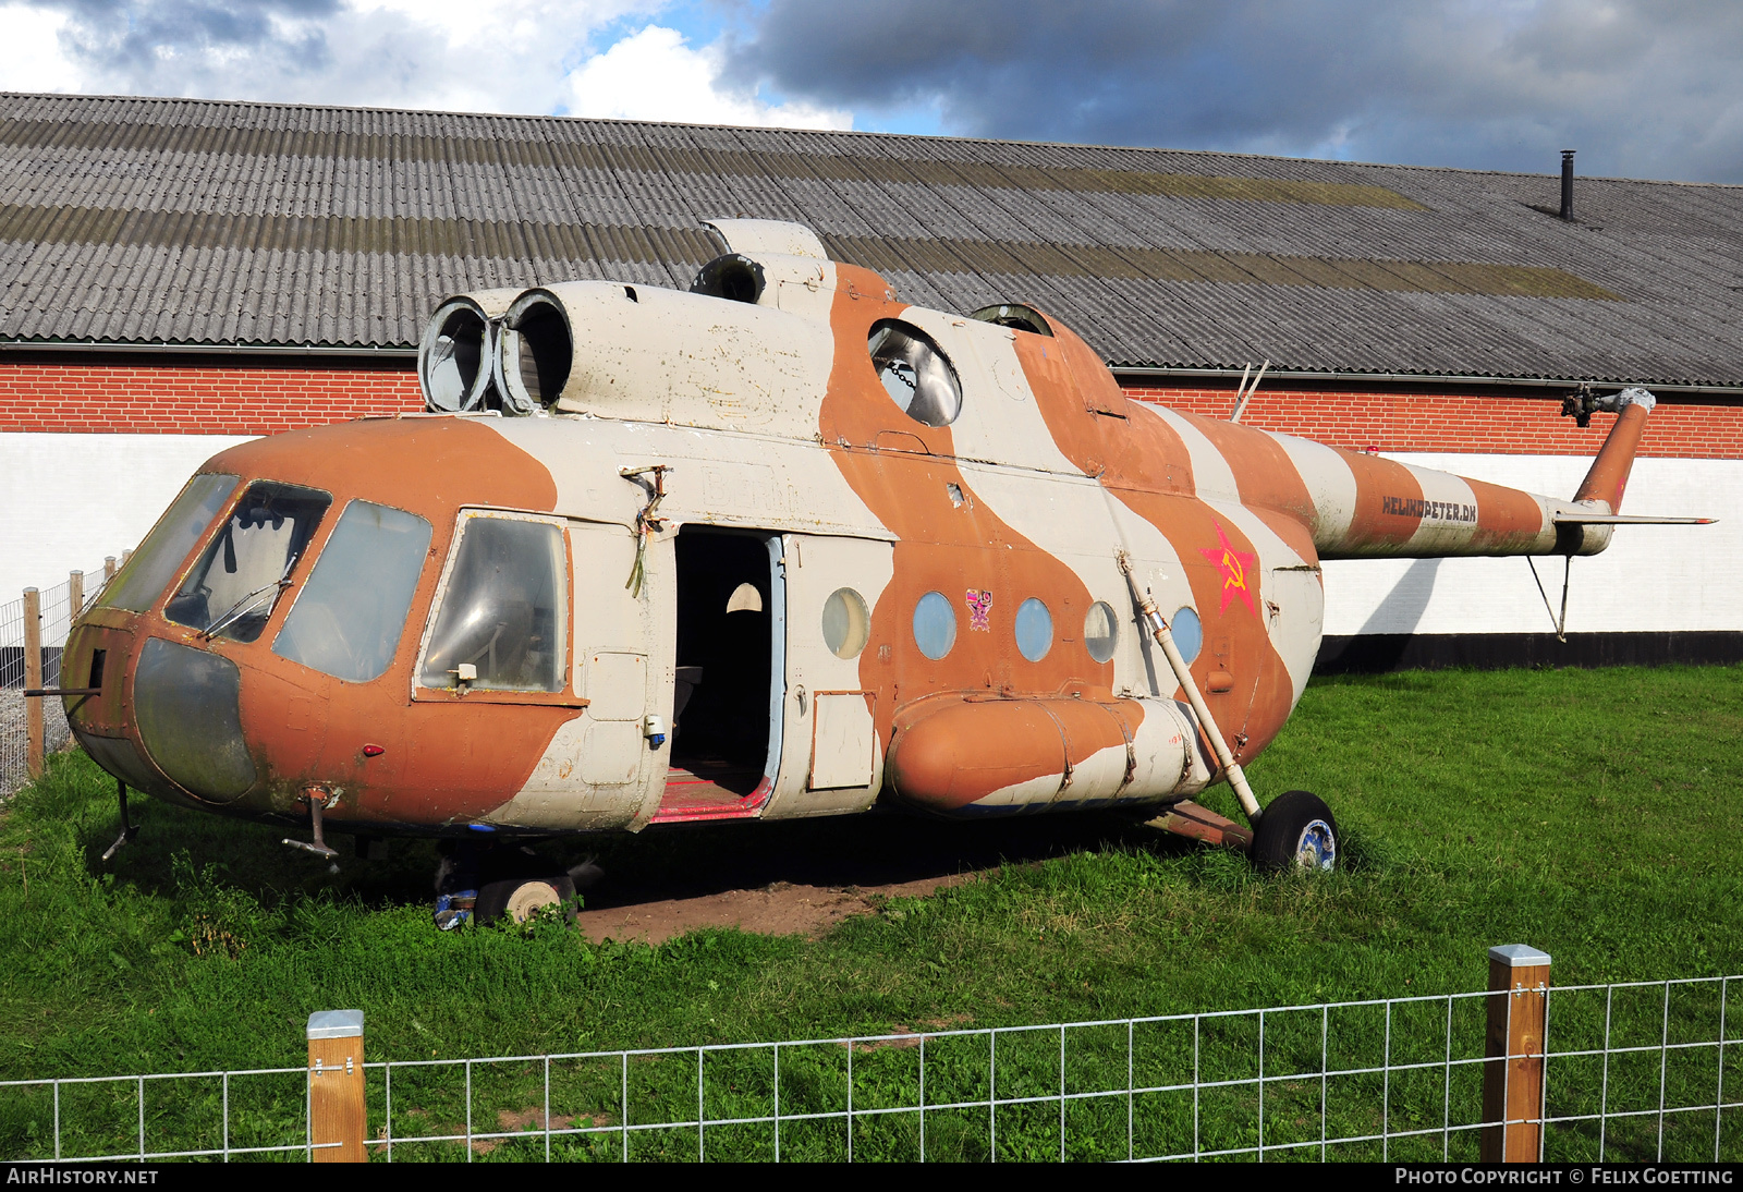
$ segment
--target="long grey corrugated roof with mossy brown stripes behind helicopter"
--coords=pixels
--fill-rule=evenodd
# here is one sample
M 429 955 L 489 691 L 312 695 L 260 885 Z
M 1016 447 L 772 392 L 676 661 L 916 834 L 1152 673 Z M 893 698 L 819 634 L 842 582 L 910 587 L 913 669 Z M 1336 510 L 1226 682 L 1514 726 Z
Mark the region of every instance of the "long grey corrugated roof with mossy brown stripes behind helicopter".
M 0 340 L 410 347 L 798 220 L 1114 364 L 1743 385 L 1743 188 L 797 129 L 0 94 Z

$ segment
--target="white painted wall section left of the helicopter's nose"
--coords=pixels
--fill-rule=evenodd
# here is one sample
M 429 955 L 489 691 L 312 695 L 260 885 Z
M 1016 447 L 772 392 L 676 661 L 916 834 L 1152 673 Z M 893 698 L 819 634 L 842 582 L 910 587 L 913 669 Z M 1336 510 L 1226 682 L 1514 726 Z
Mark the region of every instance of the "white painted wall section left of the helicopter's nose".
M 139 545 L 225 434 L 0 434 L 0 603 Z M 5 645 L 5 643 L 0 643 Z

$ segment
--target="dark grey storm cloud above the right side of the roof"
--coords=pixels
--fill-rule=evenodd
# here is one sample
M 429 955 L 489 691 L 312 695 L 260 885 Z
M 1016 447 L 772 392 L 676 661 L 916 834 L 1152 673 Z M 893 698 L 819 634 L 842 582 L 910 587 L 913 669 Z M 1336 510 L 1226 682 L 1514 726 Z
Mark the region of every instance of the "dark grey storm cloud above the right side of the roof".
M 1743 181 L 1733 0 L 772 0 L 730 77 L 967 136 Z

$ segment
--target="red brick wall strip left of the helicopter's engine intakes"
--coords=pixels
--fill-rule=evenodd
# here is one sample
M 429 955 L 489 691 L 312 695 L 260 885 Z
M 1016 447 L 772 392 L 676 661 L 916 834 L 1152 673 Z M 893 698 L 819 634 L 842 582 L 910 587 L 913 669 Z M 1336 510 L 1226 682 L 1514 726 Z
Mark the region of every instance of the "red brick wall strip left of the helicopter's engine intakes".
M 0 430 L 277 434 L 422 408 L 410 361 L 0 356 Z

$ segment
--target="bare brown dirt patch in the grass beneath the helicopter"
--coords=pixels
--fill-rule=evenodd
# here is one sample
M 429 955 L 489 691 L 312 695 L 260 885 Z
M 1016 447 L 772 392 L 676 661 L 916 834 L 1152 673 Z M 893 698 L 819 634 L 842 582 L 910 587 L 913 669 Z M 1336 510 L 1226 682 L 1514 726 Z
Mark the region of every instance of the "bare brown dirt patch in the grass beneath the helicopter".
M 889 897 L 926 897 L 960 885 L 973 873 L 950 873 L 887 885 L 800 885 L 770 882 L 753 891 L 720 891 L 603 910 L 582 910 L 580 929 L 594 943 L 641 939 L 664 943 L 699 927 L 737 927 L 763 936 L 817 938 L 852 915 L 873 913 Z

